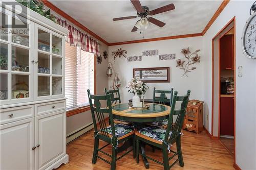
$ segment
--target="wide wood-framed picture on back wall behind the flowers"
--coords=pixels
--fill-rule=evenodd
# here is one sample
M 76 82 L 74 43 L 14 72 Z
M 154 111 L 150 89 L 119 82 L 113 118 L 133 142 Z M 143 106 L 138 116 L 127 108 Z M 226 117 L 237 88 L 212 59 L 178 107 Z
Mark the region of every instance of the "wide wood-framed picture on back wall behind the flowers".
M 170 82 L 170 67 L 133 68 L 133 77 L 145 83 Z

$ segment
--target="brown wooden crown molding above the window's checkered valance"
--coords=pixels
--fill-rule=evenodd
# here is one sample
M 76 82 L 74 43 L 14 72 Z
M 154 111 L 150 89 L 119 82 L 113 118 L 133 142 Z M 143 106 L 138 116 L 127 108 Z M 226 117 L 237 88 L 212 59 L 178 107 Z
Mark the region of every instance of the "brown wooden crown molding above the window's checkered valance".
M 61 9 L 59 9 L 58 7 L 56 7 L 55 5 L 50 3 L 48 0 L 44 0 L 43 2 L 44 2 L 44 5 L 46 5 L 48 8 L 52 9 L 53 11 L 55 11 L 56 13 L 58 13 L 59 15 L 64 17 L 65 19 L 69 20 L 74 25 L 76 25 L 77 27 L 81 28 L 83 31 L 87 32 L 88 34 L 90 34 L 94 38 L 98 39 L 99 41 L 103 42 L 104 44 L 109 45 L 109 43 L 106 42 L 103 38 L 101 38 L 100 36 L 98 36 L 97 34 L 92 32 L 91 30 L 89 30 L 87 27 L 83 26 L 80 22 L 78 22 L 73 17 L 68 15 L 66 12 L 62 11 Z

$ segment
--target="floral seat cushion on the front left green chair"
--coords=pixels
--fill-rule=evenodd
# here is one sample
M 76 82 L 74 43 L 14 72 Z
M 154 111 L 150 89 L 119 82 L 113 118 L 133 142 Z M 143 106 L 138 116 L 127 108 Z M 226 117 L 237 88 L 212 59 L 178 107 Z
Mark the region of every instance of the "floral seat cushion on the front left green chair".
M 112 135 L 111 125 L 106 127 L 106 131 Z M 122 137 L 132 131 L 134 131 L 134 128 L 131 126 L 123 125 L 123 124 L 115 124 L 115 134 L 117 138 Z

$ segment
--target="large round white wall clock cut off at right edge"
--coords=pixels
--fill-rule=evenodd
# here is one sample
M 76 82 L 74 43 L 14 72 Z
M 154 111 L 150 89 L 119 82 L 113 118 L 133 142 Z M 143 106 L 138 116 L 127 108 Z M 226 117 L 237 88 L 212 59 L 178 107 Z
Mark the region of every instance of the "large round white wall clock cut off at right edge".
M 256 59 L 256 13 L 253 13 L 246 21 L 243 36 L 242 49 L 248 58 Z

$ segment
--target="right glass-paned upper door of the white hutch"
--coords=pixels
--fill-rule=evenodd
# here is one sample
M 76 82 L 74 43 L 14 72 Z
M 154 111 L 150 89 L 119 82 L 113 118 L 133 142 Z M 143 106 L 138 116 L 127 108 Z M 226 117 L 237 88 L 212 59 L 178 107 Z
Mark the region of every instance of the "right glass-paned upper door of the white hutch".
M 63 46 L 64 37 L 35 25 L 35 99 L 45 100 L 64 96 Z

